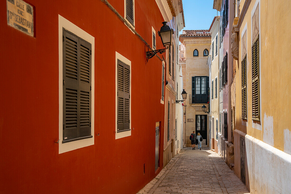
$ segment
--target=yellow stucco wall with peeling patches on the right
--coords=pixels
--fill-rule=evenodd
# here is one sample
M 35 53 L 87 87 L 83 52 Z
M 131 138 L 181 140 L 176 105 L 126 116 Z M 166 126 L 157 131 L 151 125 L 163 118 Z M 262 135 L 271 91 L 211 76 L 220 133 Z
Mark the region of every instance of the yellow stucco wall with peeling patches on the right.
M 244 1 L 241 1 L 240 12 Z M 260 15 L 260 122 L 252 120 L 251 46 L 252 11 L 259 6 Z M 255 6 L 255 7 L 254 7 Z M 236 67 L 236 128 L 282 151 L 290 153 L 291 69 L 290 29 L 291 1 L 251 1 L 239 28 L 239 59 Z M 247 120 L 242 122 L 241 60 L 242 33 L 247 33 Z M 285 131 L 285 134 L 284 134 Z M 285 138 L 285 141 L 284 141 Z M 285 142 L 285 143 L 284 143 Z M 289 143 L 288 143 L 289 142 Z M 284 148 L 285 145 L 285 148 Z

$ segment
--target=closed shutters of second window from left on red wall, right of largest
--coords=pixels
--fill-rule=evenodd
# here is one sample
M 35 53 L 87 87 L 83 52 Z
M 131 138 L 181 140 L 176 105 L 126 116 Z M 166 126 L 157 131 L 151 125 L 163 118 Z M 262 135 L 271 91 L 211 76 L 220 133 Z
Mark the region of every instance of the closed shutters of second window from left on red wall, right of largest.
M 117 61 L 118 106 L 117 106 L 117 133 L 128 131 L 130 110 L 130 67 L 120 60 Z

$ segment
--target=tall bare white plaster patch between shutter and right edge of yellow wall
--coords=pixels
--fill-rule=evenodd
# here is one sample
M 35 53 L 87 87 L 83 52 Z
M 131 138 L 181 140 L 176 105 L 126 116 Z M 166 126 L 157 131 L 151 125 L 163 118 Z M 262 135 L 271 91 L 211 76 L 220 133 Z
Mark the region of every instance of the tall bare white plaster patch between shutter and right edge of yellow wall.
M 264 115 L 264 134 L 263 140 L 265 143 L 274 146 L 274 119 L 272 116 Z

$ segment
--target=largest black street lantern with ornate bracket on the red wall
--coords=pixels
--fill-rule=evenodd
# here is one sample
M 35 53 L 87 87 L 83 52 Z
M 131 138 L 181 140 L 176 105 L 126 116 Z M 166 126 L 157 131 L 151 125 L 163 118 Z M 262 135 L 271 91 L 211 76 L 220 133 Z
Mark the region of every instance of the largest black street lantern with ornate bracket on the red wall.
M 159 49 L 159 50 L 153 50 L 153 51 L 147 51 L 145 52 L 146 58 L 152 58 L 155 56 L 157 53 L 164 53 L 166 52 L 166 49 L 169 48 L 171 45 L 171 40 L 172 40 L 172 34 L 174 33 L 173 29 L 171 29 L 168 25 L 167 22 L 162 22 L 164 25 L 161 27 L 160 31 L 158 31 L 159 37 L 161 37 L 162 43 L 165 49 Z

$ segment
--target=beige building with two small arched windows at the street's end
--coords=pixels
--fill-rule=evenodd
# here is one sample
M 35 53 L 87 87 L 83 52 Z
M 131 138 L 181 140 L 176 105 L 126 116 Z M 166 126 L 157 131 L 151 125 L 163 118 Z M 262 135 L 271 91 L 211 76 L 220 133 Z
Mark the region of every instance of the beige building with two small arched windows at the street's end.
M 209 102 L 209 67 L 207 57 L 211 44 L 209 30 L 184 30 L 180 42 L 185 47 L 186 65 L 182 65 L 183 85 L 187 94 L 184 103 L 184 145 L 191 147 L 192 131 L 203 137 L 202 145 L 209 145 L 209 115 L 202 111 Z

